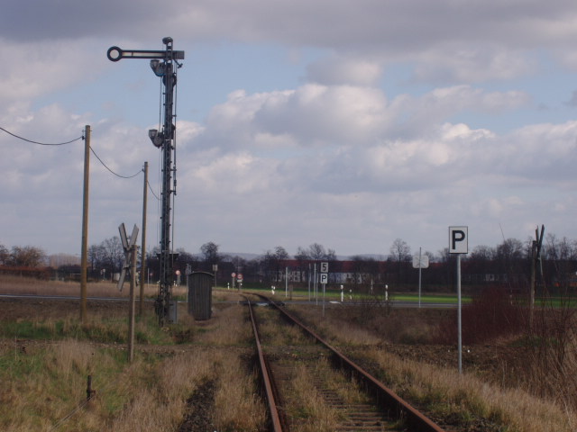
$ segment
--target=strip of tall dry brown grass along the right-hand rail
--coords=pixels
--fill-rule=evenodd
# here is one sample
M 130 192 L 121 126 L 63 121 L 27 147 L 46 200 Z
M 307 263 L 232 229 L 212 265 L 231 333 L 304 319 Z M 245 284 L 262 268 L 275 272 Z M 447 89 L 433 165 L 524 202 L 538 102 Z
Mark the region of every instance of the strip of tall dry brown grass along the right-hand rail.
M 502 425 L 505 425 L 507 430 L 520 432 L 576 430 L 577 416 L 570 408 L 574 400 L 558 397 L 566 394 L 566 390 L 574 381 L 572 378 L 574 375 L 567 376 L 564 383 L 553 380 L 551 376 L 554 368 L 562 370 L 563 373 L 577 371 L 574 350 L 563 349 L 563 366 L 553 361 L 555 356 L 559 357 L 558 351 L 561 349 L 557 344 L 548 347 L 540 345 L 526 351 L 528 355 L 533 353 L 533 356 L 540 357 L 542 361 L 536 362 L 534 358 L 527 357 L 528 374 L 517 376 L 517 387 L 511 385 L 512 380 L 509 378 L 508 388 L 504 388 L 497 383 L 484 382 L 474 374 L 458 374 L 454 368 L 447 369 L 410 361 L 387 353 L 378 347 L 385 339 L 375 336 L 374 320 L 361 325 L 354 324 L 356 321 L 353 319 L 349 321 L 353 324 L 343 326 L 343 322 L 334 313 L 327 313 L 323 319 L 315 308 L 298 309 L 298 315 L 316 327 L 323 336 L 334 341 L 335 345 L 373 346 L 365 353 L 370 361 L 378 365 L 374 373 L 380 375 L 389 387 L 408 401 L 413 401 L 419 406 L 427 406 L 427 410 L 434 413 L 436 418 L 460 419 L 463 428 L 466 428 L 467 424 L 474 424 L 475 421 L 487 422 L 485 430 L 501 430 L 499 427 L 502 428 Z M 380 318 L 377 317 L 376 320 Z M 393 317 L 390 322 L 398 320 Z M 564 325 L 568 326 L 566 322 Z M 559 327 L 556 326 L 557 329 Z M 387 331 L 382 333 L 386 335 Z M 549 334 L 551 333 L 552 330 L 549 330 Z M 573 345 L 566 345 L 566 347 L 574 346 L 577 347 L 577 340 Z M 529 364 L 536 365 L 539 370 L 528 367 Z M 518 369 L 515 372 L 518 373 Z M 551 381 L 542 383 L 539 380 Z M 552 391 L 552 386 L 555 385 L 557 397 L 553 396 Z M 536 394 L 544 392 L 543 389 L 547 389 L 548 396 L 537 397 Z

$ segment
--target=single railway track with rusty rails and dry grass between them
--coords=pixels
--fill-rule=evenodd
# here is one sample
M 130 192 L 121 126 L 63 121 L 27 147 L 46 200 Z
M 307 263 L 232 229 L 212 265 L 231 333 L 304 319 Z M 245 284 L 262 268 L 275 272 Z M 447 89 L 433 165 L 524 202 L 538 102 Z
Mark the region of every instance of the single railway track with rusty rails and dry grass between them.
M 444 432 L 281 305 L 259 297 L 247 304 L 271 430 Z M 292 326 L 279 330 L 279 316 Z

